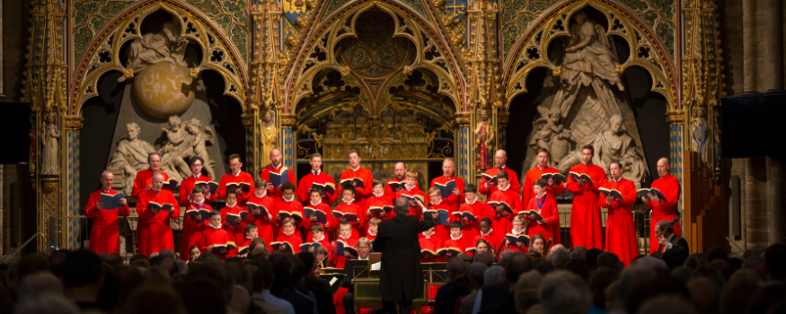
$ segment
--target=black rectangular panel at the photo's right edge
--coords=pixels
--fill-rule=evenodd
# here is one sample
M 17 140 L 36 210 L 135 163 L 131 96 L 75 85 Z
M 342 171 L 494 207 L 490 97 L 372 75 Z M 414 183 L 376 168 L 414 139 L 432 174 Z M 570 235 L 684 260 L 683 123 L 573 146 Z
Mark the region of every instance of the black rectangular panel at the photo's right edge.
M 720 154 L 723 158 L 786 155 L 784 134 L 786 93 L 720 99 Z

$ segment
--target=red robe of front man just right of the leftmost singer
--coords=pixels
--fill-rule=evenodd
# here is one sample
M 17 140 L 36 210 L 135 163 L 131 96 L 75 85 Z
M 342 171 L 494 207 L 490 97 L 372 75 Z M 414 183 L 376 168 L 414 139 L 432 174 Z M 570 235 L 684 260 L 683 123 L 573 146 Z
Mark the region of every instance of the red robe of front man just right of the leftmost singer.
M 156 202 L 158 204 L 172 204 L 172 213 L 159 211 L 153 214 L 147 210 L 147 204 Z M 160 192 L 148 189 L 139 194 L 137 198 L 137 232 L 139 233 L 139 254 L 150 257 L 153 253 L 161 252 L 163 249 L 174 249 L 172 240 L 172 217 L 178 218 L 181 214 L 181 207 L 177 204 L 177 199 L 172 196 L 172 191 L 162 189 Z

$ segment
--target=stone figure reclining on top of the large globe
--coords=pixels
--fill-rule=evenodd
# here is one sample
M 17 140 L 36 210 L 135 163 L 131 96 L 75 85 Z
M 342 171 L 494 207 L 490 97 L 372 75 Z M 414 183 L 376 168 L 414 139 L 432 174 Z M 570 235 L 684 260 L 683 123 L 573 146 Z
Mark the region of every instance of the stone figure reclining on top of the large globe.
M 138 74 L 145 66 L 159 62 L 187 66 L 184 57 L 189 40 L 180 35 L 180 19 L 172 16 L 172 21 L 163 23 L 161 31 L 146 33 L 142 38 L 135 39 L 128 49 L 128 69 Z M 125 75 L 118 78 L 118 82 L 125 80 Z

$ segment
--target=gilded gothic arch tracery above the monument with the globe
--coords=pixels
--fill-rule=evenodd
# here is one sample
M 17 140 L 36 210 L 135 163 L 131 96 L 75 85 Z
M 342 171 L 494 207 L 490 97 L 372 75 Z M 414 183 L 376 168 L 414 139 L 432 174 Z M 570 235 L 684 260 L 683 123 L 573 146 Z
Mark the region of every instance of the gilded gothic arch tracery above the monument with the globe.
M 224 93 L 237 100 L 243 110 L 246 109 L 246 66 L 231 40 L 203 13 L 174 1 L 151 0 L 119 14 L 119 17 L 93 38 L 86 53 L 75 66 L 71 88 L 71 106 L 75 115 L 82 114 L 85 100 L 98 96 L 97 84 L 102 74 L 110 71 L 122 73 L 125 70 L 119 59 L 120 49 L 127 42 L 141 38 L 140 26 L 143 20 L 158 10 L 178 17 L 181 21 L 181 37 L 190 39 L 202 48 L 198 71 L 192 75 L 199 74 L 202 70 L 215 70 L 224 77 Z

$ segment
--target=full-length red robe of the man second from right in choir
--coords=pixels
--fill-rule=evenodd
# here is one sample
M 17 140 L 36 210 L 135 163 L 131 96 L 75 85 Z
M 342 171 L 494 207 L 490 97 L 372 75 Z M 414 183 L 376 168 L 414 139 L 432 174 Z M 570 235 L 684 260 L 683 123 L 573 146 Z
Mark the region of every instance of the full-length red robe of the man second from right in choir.
M 605 220 L 605 250 L 620 257 L 627 267 L 631 265 L 633 258 L 639 256 L 639 240 L 633 227 L 632 214 L 633 203 L 636 203 L 636 186 L 629 179 L 613 179 L 602 188 L 618 190 L 624 198 L 606 204 L 606 197 L 601 194 L 598 203 L 607 208 L 609 213 Z

